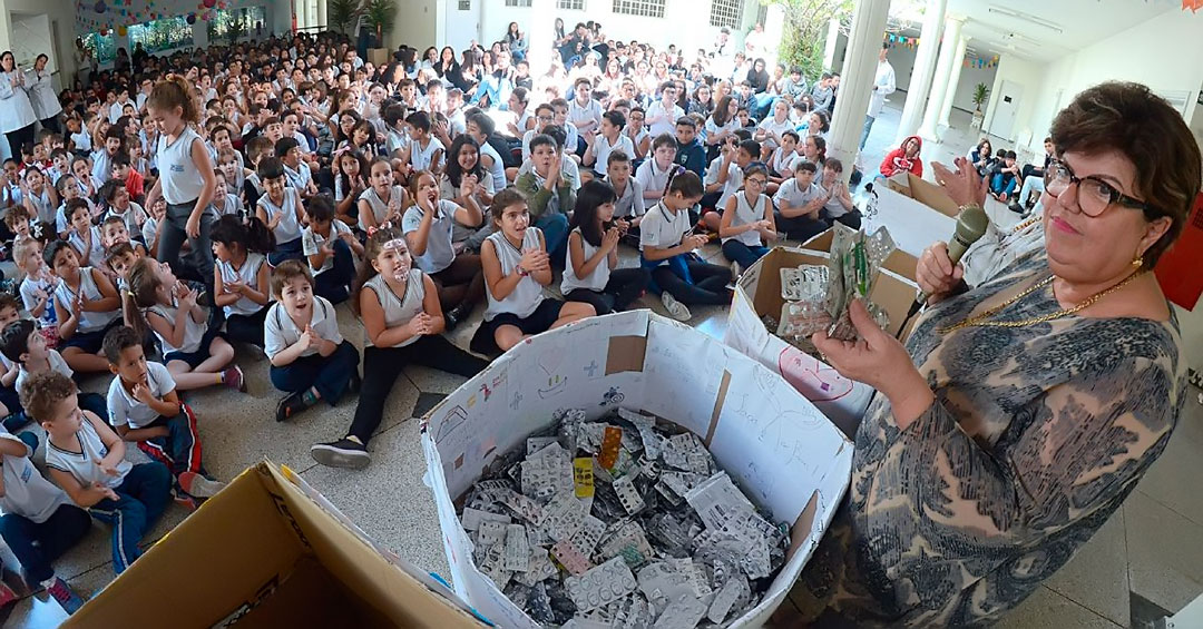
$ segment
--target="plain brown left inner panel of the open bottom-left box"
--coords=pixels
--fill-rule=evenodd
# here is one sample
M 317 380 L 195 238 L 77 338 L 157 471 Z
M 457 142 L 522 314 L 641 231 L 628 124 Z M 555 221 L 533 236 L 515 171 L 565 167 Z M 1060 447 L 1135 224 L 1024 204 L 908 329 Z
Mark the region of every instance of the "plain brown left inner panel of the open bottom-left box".
M 248 469 L 64 627 L 161 627 L 165 618 L 176 627 L 209 627 L 301 553 L 260 474 Z

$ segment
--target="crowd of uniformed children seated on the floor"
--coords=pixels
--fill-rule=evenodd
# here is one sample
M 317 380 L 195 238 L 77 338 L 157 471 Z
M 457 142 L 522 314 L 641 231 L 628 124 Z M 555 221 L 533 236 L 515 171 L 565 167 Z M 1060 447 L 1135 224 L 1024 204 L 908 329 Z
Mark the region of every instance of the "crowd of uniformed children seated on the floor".
M 357 393 L 345 434 L 310 452 L 362 468 L 407 364 L 470 376 L 478 355 L 646 291 L 685 321 L 731 298 L 703 244 L 747 267 L 782 236 L 859 221 L 824 155 L 832 77 L 807 90 L 778 67 L 757 95 L 752 60 L 686 66 L 635 42 L 538 78 L 506 42 L 462 64 L 410 53 L 374 67 L 322 34 L 142 59 L 64 93 L 66 132 L 5 161 L 0 236 L 22 281 L 0 293 L 0 533 L 69 611 L 51 563 L 89 516 L 112 524 L 119 572 L 170 498 L 221 488 L 180 392 L 245 391 L 238 348 L 269 361 L 277 421 Z M 620 268 L 621 247 L 640 265 Z M 446 340 L 481 307 L 475 354 Z M 106 373 L 103 397 L 76 386 Z M 30 464 L 31 421 L 53 483 Z

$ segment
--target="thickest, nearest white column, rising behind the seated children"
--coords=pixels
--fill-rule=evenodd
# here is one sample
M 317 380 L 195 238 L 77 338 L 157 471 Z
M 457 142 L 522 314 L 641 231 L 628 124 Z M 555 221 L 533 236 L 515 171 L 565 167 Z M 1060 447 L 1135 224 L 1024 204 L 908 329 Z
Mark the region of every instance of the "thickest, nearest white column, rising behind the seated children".
M 828 155 L 845 164 L 843 177 L 852 176 L 857 162 L 860 133 L 865 129 L 865 112 L 877 77 L 877 57 L 882 51 L 889 0 L 861 0 L 852 14 L 848 53 L 843 59 L 840 97 L 835 103 L 831 131 L 828 132 Z

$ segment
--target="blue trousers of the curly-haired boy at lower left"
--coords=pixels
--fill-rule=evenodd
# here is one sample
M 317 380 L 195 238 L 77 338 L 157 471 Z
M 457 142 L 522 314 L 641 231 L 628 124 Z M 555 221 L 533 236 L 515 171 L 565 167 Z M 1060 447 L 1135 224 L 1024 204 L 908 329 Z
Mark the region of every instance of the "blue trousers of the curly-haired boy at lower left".
M 134 465 L 114 491 L 117 500 L 105 498 L 88 512 L 113 527 L 113 571 L 122 574 L 142 557 L 138 542 L 171 499 L 171 473 L 162 463 Z

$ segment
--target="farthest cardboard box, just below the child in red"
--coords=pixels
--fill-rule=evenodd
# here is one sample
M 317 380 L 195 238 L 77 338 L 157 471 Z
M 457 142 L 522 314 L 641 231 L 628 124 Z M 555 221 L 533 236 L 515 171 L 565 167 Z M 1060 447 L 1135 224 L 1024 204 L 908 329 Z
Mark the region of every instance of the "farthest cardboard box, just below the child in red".
M 940 186 L 905 174 L 873 186 L 876 209 L 866 213 L 864 227 L 872 232 L 884 226 L 901 251 L 918 257 L 936 241 L 953 237 L 958 207 Z

